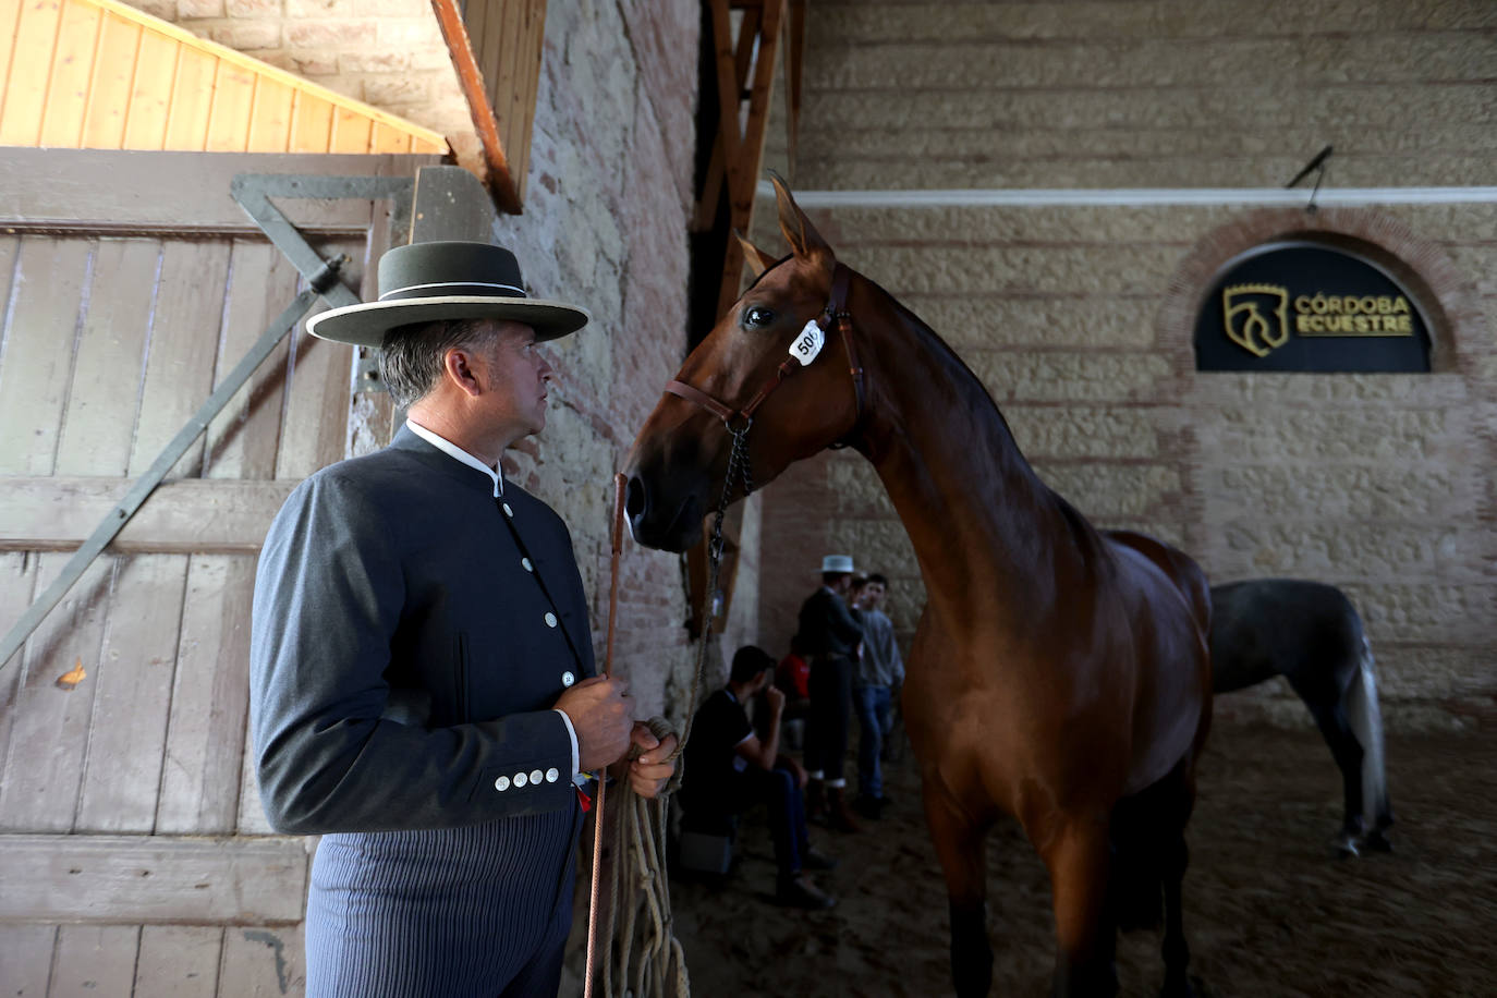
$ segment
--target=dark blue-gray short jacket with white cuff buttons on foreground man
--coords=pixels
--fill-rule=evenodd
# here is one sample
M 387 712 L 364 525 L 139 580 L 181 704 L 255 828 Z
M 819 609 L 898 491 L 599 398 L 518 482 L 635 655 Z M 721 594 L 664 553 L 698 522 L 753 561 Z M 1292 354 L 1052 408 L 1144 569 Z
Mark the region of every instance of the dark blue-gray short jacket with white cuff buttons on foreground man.
M 510 482 L 496 500 L 401 428 L 302 482 L 265 539 L 250 724 L 266 817 L 379 832 L 575 806 L 551 705 L 593 672 L 561 518 Z

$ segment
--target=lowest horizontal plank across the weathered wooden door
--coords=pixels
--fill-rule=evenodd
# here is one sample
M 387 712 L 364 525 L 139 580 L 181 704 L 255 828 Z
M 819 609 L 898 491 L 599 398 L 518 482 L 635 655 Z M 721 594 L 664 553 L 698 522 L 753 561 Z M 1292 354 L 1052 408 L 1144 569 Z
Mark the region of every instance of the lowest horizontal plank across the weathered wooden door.
M 0 835 L 0 923 L 293 925 L 301 836 Z

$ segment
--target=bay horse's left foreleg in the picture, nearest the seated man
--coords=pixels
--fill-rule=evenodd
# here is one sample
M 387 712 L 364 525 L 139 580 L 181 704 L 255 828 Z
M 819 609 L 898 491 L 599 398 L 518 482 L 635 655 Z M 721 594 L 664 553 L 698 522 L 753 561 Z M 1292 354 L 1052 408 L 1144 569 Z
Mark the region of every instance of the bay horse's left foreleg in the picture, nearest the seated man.
M 958 809 L 946 793 L 925 781 L 925 821 L 946 875 L 951 901 L 951 979 L 958 998 L 981 998 L 993 985 L 988 943 L 987 826 Z

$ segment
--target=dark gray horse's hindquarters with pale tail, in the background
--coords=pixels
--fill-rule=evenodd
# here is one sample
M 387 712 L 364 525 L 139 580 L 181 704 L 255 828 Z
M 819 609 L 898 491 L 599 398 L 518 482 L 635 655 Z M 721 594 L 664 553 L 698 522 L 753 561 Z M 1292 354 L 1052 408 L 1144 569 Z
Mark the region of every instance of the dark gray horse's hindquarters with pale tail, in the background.
M 1310 708 L 1341 771 L 1346 814 L 1337 850 L 1392 848 L 1373 649 L 1344 593 L 1304 579 L 1211 588 L 1211 685 L 1232 693 L 1272 676 L 1287 679 Z

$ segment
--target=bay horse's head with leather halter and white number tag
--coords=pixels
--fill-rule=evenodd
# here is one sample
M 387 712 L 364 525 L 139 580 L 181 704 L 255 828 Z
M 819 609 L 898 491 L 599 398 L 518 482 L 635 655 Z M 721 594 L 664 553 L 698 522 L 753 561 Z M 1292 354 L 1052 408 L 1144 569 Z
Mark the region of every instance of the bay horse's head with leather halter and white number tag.
M 686 359 L 635 438 L 626 510 L 642 545 L 684 551 L 696 542 L 723 497 L 735 444 L 747 467 L 734 465 L 731 501 L 858 423 L 861 373 L 850 373 L 852 347 L 837 325 L 849 272 L 778 177 L 774 190 L 790 256 L 775 262 L 744 241 L 759 278 Z

